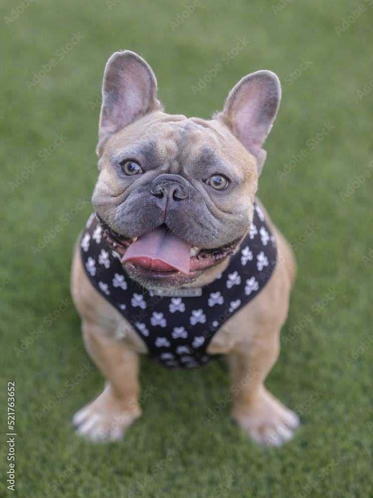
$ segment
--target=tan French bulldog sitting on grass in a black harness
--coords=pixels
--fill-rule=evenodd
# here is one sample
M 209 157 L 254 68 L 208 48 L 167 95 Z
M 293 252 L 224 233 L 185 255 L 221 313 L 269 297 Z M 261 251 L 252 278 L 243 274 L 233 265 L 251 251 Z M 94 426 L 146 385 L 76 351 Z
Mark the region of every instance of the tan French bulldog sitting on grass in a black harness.
M 245 76 L 210 121 L 168 115 L 150 66 L 108 61 L 100 175 L 76 246 L 71 289 L 103 392 L 73 417 L 77 434 L 116 440 L 141 415 L 139 354 L 168 368 L 228 355 L 232 418 L 281 445 L 297 415 L 264 387 L 296 276 L 294 255 L 255 197 L 281 87 Z M 203 370 L 201 371 L 203 374 Z

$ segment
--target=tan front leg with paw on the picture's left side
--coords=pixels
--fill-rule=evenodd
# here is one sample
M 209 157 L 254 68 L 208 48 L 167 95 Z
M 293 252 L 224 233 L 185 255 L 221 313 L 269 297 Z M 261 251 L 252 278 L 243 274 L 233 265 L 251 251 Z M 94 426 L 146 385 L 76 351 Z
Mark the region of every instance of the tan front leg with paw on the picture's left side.
M 116 341 L 100 325 L 84 319 L 86 349 L 107 379 L 105 389 L 73 417 L 77 434 L 93 441 L 116 440 L 141 415 L 138 354 Z

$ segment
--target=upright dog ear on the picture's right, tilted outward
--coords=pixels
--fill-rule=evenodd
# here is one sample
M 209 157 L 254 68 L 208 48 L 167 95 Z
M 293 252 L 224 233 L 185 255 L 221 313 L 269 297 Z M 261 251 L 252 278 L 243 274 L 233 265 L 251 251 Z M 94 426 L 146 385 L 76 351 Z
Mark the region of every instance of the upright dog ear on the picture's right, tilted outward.
M 261 145 L 272 127 L 280 100 L 281 85 L 277 76 L 271 71 L 257 71 L 237 83 L 223 112 L 216 116 L 255 156 L 258 175 L 267 155 Z

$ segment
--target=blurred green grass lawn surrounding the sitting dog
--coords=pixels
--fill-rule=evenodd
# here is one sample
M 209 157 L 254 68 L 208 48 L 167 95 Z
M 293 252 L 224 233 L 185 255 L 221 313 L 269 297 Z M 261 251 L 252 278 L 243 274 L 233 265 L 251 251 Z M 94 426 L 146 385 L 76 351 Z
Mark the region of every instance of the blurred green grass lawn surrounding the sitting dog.
M 362 256 L 373 248 L 373 92 L 357 94 L 372 80 L 372 6 L 363 0 L 294 0 L 283 2 L 286 6 L 275 15 L 269 0 L 202 1 L 173 31 L 169 21 L 185 3 L 192 2 L 122 0 L 109 9 L 104 0 L 36 0 L 8 26 L 4 16 L 19 3 L 1 7 L 0 495 L 215 498 L 216 486 L 238 469 L 242 475 L 224 488 L 224 496 L 372 496 L 373 345 L 352 365 L 345 360 L 372 335 L 372 259 Z M 338 36 L 335 26 L 360 4 L 366 11 Z M 84 38 L 58 59 L 48 78 L 28 90 L 26 80 L 56 57 L 73 33 Z M 192 85 L 239 37 L 249 40 L 246 48 L 194 95 Z M 49 327 L 43 317 L 61 299 L 70 300 L 72 248 L 92 208 L 87 205 L 67 225 L 61 217 L 93 191 L 99 108 L 91 109 L 90 102 L 100 93 L 107 59 L 119 49 L 133 50 L 149 62 L 169 113 L 208 118 L 242 76 L 258 69 L 276 72 L 285 88 L 265 144 L 258 195 L 288 240 L 299 238 L 307 225 L 317 228 L 297 246 L 299 273 L 282 336 L 305 315 L 312 320 L 292 341 L 282 342 L 266 384 L 290 408 L 307 401 L 311 390 L 322 395 L 304 411 L 294 440 L 283 448 L 267 450 L 249 441 L 230 421 L 229 407 L 206 427 L 202 424 L 201 417 L 229 393 L 225 360 L 169 373 L 143 359 L 141 383 L 157 390 L 143 403 L 143 417 L 116 444 L 83 441 L 70 426 L 72 415 L 102 389 L 97 369 L 41 421 L 36 417 L 43 403 L 90 361 L 73 306 Z M 312 64 L 290 85 L 286 76 L 307 58 Z M 307 141 L 329 122 L 335 127 L 311 150 Z M 39 151 L 53 143 L 56 133 L 66 139 L 42 160 Z M 280 181 L 277 171 L 301 149 L 308 154 Z M 35 160 L 39 167 L 11 188 L 9 182 Z M 340 192 L 365 170 L 371 176 L 343 200 Z M 31 246 L 56 224 L 62 230 L 34 255 Z M 336 297 L 319 313 L 312 311 L 329 288 L 335 288 Z M 17 357 L 14 348 L 41 325 L 45 332 Z M 9 380 L 16 382 L 14 493 L 5 484 Z M 156 474 L 153 466 L 168 449 L 178 454 L 165 467 L 160 464 Z M 340 457 L 333 465 L 335 455 Z M 56 489 L 50 483 L 64 471 L 66 480 Z M 146 476 L 151 483 L 142 491 L 135 488 Z M 309 488 L 312 483 L 317 486 Z

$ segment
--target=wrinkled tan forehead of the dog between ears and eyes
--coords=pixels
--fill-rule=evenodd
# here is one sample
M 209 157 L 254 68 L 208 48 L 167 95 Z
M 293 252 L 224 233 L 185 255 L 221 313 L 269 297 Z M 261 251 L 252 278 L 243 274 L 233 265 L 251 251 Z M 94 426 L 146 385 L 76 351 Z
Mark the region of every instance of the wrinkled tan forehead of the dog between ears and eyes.
M 123 155 L 143 157 L 152 163 L 232 162 L 247 172 L 254 159 L 231 131 L 215 120 L 152 113 L 115 135 L 107 152 L 115 160 Z

